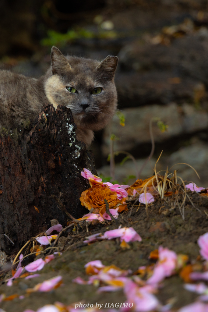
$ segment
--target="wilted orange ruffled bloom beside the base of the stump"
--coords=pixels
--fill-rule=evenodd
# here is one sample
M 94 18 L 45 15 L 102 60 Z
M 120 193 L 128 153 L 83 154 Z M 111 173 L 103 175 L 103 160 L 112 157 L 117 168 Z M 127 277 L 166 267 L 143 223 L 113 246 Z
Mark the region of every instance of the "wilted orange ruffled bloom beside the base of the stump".
M 116 208 L 116 205 L 120 203 L 116 192 L 112 192 L 109 187 L 99 184 L 92 185 L 91 188 L 82 192 L 80 202 L 89 210 L 94 208 L 93 213 L 99 213 L 102 216 L 105 212 L 104 199 L 107 200 L 109 208 Z

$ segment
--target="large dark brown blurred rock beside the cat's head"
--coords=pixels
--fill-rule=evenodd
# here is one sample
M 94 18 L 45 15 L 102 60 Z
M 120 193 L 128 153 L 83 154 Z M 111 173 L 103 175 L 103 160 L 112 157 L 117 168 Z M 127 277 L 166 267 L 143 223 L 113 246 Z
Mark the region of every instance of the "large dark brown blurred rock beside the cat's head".
M 119 64 L 125 72 L 116 76 L 120 105 L 193 102 L 196 85 L 202 82 L 208 86 L 207 35 L 198 31 L 168 45 L 136 40 L 124 46 Z

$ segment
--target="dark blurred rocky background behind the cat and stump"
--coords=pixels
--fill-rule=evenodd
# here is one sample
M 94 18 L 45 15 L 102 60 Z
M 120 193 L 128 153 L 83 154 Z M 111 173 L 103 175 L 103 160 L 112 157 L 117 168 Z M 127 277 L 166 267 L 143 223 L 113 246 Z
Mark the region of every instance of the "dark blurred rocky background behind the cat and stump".
M 109 136 L 115 150 L 125 150 L 138 167 L 151 151 L 149 121 L 156 123 L 152 166 L 163 150 L 158 169 L 189 163 L 178 174 L 198 186 L 208 186 L 208 1 L 207 0 L 31 0 L 0 1 L 0 67 L 39 77 L 50 64 L 50 50 L 102 60 L 119 56 L 115 83 L 118 118 L 95 135 L 92 149 L 99 173 L 109 176 Z M 135 175 L 131 160 L 119 162 L 116 178 Z M 148 163 L 142 178 L 152 174 Z M 128 179 L 127 179 L 128 180 Z M 129 183 L 133 182 L 129 180 Z

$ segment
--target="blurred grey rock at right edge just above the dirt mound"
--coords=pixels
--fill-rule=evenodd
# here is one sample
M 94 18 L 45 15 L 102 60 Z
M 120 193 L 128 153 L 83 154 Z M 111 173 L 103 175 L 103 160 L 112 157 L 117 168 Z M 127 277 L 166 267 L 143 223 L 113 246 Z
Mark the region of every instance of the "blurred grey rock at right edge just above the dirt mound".
M 199 179 L 194 170 L 187 165 L 174 166 L 172 170 L 178 169 L 177 175 L 183 180 L 192 181 L 199 187 L 208 187 L 208 144 L 197 142 L 190 146 L 182 147 L 171 155 L 168 168 L 177 163 L 191 165 L 201 178 Z

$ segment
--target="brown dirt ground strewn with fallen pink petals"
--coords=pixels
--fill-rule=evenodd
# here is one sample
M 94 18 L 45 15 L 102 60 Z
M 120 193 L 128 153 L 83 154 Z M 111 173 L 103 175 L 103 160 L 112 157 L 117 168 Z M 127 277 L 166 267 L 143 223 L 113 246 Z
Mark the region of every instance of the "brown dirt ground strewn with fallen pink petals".
M 67 247 L 68 250 L 62 251 L 62 255 L 46 264 L 42 271 L 38 272 L 41 276 L 31 280 L 18 278 L 11 287 L 8 287 L 4 282 L 5 279 L 12 276 L 11 271 L 6 276 L 4 274 L 1 277 L 0 294 L 4 293 L 6 296 L 25 295 L 25 298 L 3 301 L 0 303 L 0 308 L 6 312 L 22 312 L 26 308 L 36 311 L 43 305 L 53 304 L 55 301 L 60 301 L 66 305 L 74 302 L 90 304 L 125 302 L 126 298 L 122 290 L 98 293 L 95 286 L 78 285 L 72 282 L 77 276 L 87 280 L 84 265 L 92 260 L 101 260 L 104 265 L 114 264 L 122 269 L 131 269 L 135 272 L 138 270 L 138 266 L 151 264 L 152 261 L 148 260 L 150 252 L 162 245 L 176 253 L 188 255 L 191 263 L 193 263 L 199 255 L 197 239 L 200 235 L 208 232 L 208 217 L 205 213 L 208 213 L 208 197 L 191 191 L 187 194 L 191 198 L 192 204 L 187 198 L 185 220 L 182 219 L 179 209 L 173 206 L 173 197 L 166 197 L 165 199 L 158 197 L 151 206 L 148 206 L 148 216 L 145 205 L 138 207 L 135 203 L 135 206 L 132 207 L 131 202 L 128 211 L 123 212 L 118 217 L 122 227 L 133 227 L 142 237 L 141 242 L 130 243 L 130 249 L 123 250 L 119 246 L 118 239 L 97 241 L 90 245 L 85 244 L 85 246 L 82 243 L 85 236 L 99 232 L 104 234 L 106 230 L 117 228 L 118 226 L 114 221 L 89 225 L 89 234 L 86 233 L 84 226 L 83 229 L 79 229 L 79 234 L 70 232 L 60 237 L 58 241 L 60 251 L 67 249 Z M 26 294 L 27 288 L 32 288 L 36 284 L 57 275 L 63 277 L 63 285 L 59 288 L 49 293 Z M 178 275 L 166 278 L 162 284 L 163 287 L 157 293 L 157 298 L 162 304 L 166 304 L 168 299 L 174 297 L 176 301 L 173 310 L 193 302 L 197 295 L 185 290 L 183 284 L 183 280 Z

